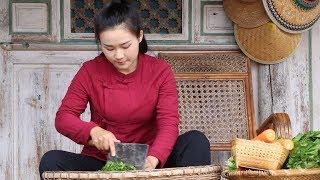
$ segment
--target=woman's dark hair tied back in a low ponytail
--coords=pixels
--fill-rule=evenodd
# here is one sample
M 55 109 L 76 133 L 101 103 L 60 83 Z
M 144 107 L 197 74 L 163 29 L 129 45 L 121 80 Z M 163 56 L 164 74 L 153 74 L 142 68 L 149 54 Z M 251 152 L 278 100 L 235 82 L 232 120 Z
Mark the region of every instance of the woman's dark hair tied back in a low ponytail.
M 140 35 L 141 22 L 137 10 L 138 4 L 130 0 L 112 0 L 106 4 L 100 13 L 95 17 L 95 38 L 100 43 L 100 33 L 124 23 L 126 27 L 137 37 Z M 148 51 L 147 41 L 143 35 L 139 43 L 139 52 Z

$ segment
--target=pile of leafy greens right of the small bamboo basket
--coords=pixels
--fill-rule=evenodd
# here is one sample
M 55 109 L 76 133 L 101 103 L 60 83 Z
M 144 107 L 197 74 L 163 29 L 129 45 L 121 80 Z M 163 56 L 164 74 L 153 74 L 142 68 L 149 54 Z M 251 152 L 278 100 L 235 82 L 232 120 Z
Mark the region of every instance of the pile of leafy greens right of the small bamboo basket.
M 320 167 L 320 131 L 300 133 L 293 138 L 294 148 L 289 154 L 286 167 L 309 169 Z

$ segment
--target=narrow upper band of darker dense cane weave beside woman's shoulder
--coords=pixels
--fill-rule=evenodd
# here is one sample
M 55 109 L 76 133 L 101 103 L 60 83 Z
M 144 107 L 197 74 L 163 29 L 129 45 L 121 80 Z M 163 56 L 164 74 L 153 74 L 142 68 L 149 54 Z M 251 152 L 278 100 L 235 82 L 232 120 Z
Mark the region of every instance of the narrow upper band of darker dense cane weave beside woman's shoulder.
M 247 57 L 241 53 L 161 54 L 176 73 L 247 73 Z

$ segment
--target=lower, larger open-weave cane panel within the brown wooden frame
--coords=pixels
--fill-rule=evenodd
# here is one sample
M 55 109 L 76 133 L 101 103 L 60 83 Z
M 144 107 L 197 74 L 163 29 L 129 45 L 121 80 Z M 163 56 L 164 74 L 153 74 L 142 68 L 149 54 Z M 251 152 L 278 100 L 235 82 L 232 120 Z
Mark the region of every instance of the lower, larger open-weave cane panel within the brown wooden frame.
M 178 80 L 180 133 L 201 130 L 211 144 L 248 137 L 243 80 Z

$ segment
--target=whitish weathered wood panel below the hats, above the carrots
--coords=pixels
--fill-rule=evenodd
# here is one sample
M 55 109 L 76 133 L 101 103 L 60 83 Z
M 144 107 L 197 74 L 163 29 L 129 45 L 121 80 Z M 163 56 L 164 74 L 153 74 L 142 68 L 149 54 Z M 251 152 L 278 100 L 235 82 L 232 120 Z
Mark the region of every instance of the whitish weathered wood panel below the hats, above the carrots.
M 293 134 L 310 129 L 308 34 L 286 61 L 259 67 L 259 118 L 271 112 L 289 114 Z

